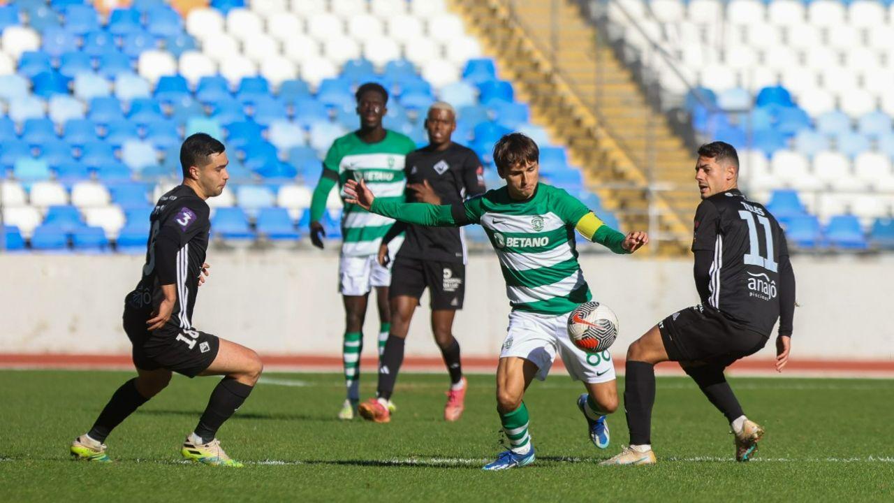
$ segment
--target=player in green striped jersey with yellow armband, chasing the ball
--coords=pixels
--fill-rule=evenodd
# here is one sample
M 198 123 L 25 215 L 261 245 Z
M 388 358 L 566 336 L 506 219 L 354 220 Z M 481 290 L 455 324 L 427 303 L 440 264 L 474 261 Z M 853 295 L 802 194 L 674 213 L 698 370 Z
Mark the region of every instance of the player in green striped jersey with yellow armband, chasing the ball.
M 512 307 L 497 366 L 497 412 L 510 449 L 485 470 L 534 461 L 522 398 L 534 378 L 546 378 L 556 354 L 572 379 L 584 383 L 587 393 L 578 397 L 578 407 L 591 439 L 599 448 L 608 447 L 605 415 L 618 407 L 611 354 L 586 354 L 571 343 L 566 328 L 570 312 L 592 298 L 578 264 L 574 231 L 620 254 L 636 252 L 648 243 L 644 232 L 625 236 L 603 224 L 568 192 L 538 183 L 539 154 L 527 136 L 504 136 L 493 148 L 493 161 L 506 186 L 452 205 L 384 200 L 363 181 L 345 185 L 347 201 L 376 215 L 423 226 L 479 224 L 490 238 Z M 600 425 L 604 439 L 595 436 Z

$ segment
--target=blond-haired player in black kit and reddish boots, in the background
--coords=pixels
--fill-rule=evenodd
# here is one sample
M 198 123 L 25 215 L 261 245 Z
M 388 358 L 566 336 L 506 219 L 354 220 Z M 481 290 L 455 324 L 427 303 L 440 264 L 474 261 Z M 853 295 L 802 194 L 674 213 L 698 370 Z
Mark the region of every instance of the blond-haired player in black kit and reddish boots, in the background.
M 454 130 L 453 107 L 444 102 L 434 103 L 426 115 L 429 144 L 410 153 L 404 165 L 409 202 L 451 204 L 485 192 L 481 161 L 474 151 L 451 141 Z M 452 328 L 453 315 L 462 309 L 466 288 L 466 243 L 458 228 L 398 222 L 385 234 L 379 248 L 379 261 L 383 265 L 389 260 L 387 243 L 404 231 L 406 238 L 392 267 L 389 291 L 392 322 L 380 358 L 378 390 L 375 398 L 359 406 L 358 412 L 370 421 L 391 421 L 387 405 L 403 362 L 409 320 L 427 287 L 434 341 L 441 348 L 451 378 L 444 419 L 457 421 L 465 406 L 466 379 L 460 366 L 460 344 L 453 337 Z

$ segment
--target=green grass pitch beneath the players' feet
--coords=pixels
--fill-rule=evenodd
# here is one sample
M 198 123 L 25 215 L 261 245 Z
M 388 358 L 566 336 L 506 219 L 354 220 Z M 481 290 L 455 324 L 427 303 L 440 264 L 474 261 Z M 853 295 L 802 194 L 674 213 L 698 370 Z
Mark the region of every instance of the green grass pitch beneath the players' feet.
M 4 501 L 502 501 L 894 499 L 894 386 L 885 380 L 732 379 L 768 433 L 758 458 L 732 462 L 729 426 L 686 378 L 658 380 L 653 441 L 659 463 L 600 467 L 627 441 L 610 419 L 606 451 L 590 444 L 558 373 L 526 403 L 537 462 L 502 473 L 480 466 L 502 450 L 493 377 L 472 376 L 460 422 L 442 420 L 446 378 L 403 374 L 390 424 L 338 422 L 336 374 L 268 374 L 219 433 L 241 470 L 183 465 L 180 445 L 216 379 L 173 379 L 106 443 L 111 465 L 73 463 L 68 444 L 89 429 L 126 372 L 0 371 L 0 494 Z M 363 395 L 375 376 L 365 375 Z M 620 390 L 623 381 L 619 381 Z M 259 462 L 279 461 L 282 464 Z

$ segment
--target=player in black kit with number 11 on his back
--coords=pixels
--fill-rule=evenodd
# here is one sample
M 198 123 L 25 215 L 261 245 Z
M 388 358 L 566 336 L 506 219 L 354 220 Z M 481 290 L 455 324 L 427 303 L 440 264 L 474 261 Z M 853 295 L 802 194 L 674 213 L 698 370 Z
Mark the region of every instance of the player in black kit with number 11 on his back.
M 738 154 L 714 141 L 698 149 L 694 274 L 701 303 L 673 313 L 630 345 L 624 407 L 630 446 L 602 465 L 653 465 L 654 365 L 679 362 L 735 434 L 736 460 L 750 459 L 763 428 L 750 421 L 723 375 L 767 343 L 776 320 L 776 370 L 789 360 L 795 273 L 779 223 L 738 190 Z

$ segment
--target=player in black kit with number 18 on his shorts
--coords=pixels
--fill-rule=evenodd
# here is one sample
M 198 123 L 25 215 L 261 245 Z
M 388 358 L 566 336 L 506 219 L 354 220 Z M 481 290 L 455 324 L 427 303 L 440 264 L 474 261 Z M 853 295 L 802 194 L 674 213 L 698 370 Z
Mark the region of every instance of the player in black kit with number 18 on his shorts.
M 183 183 L 152 211 L 146 264 L 137 288 L 124 298 L 123 325 L 137 377 L 122 384 L 90 431 L 74 439 L 75 459 L 109 461 L 105 438 L 164 389 L 175 371 L 190 378 L 223 375 L 181 455 L 207 465 L 241 466 L 223 452 L 215 435 L 249 396 L 263 365 L 249 348 L 192 326 L 198 286 L 209 268 L 205 253 L 211 223 L 205 200 L 220 195 L 229 178 L 223 150 L 220 141 L 201 132 L 183 141 Z

